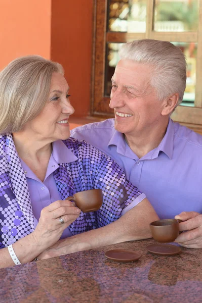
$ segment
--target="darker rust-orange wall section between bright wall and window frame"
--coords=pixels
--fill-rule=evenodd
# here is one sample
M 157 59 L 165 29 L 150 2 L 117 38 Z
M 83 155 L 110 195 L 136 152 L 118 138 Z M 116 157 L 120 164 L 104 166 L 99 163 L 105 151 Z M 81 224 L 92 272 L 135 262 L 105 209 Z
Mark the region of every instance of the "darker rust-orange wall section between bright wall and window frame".
M 61 63 L 74 116 L 90 109 L 93 0 L 52 1 L 51 59 Z

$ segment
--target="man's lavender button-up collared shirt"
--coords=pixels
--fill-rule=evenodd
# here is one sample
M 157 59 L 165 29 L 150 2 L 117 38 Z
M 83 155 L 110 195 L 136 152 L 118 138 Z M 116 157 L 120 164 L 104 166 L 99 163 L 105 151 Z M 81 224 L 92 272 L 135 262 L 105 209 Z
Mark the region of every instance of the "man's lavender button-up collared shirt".
M 114 129 L 114 119 L 77 127 L 71 137 L 86 140 L 114 159 L 160 219 L 202 212 L 202 136 L 189 128 L 170 119 L 163 140 L 140 159 Z

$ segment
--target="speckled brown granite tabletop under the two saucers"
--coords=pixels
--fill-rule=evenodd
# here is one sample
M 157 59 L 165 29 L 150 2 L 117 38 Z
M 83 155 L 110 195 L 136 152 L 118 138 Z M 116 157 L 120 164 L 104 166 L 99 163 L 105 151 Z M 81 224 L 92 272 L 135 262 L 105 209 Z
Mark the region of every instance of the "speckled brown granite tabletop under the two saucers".
M 201 303 L 202 250 L 182 248 L 180 255 L 151 255 L 153 239 L 94 250 L 0 270 L 0 302 Z M 116 263 L 104 251 L 142 252 L 131 263 Z

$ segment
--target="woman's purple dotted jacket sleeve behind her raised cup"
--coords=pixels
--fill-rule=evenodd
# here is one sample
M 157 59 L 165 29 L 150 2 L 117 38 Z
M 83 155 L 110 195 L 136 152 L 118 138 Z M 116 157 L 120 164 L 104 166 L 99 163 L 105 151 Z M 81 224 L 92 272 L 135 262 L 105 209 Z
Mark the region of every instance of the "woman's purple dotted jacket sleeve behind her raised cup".
M 74 165 L 76 191 L 101 188 L 103 205 L 97 212 L 82 213 L 72 224 L 73 234 L 105 226 L 122 215 L 124 209 L 137 205 L 145 195 L 130 183 L 124 171 L 102 151 L 85 141 L 77 141 L 78 167 Z M 75 148 L 74 148 L 75 150 Z M 142 195 L 142 199 L 139 198 Z M 71 229 L 71 228 L 70 228 Z

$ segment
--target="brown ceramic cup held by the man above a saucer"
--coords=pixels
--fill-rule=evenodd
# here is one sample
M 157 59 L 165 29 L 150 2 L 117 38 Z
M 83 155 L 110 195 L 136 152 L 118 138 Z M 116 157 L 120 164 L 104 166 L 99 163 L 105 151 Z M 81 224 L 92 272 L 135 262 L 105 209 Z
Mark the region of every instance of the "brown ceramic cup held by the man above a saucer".
M 150 231 L 154 240 L 161 243 L 169 243 L 175 241 L 179 236 L 179 223 L 181 220 L 164 219 L 150 223 Z

